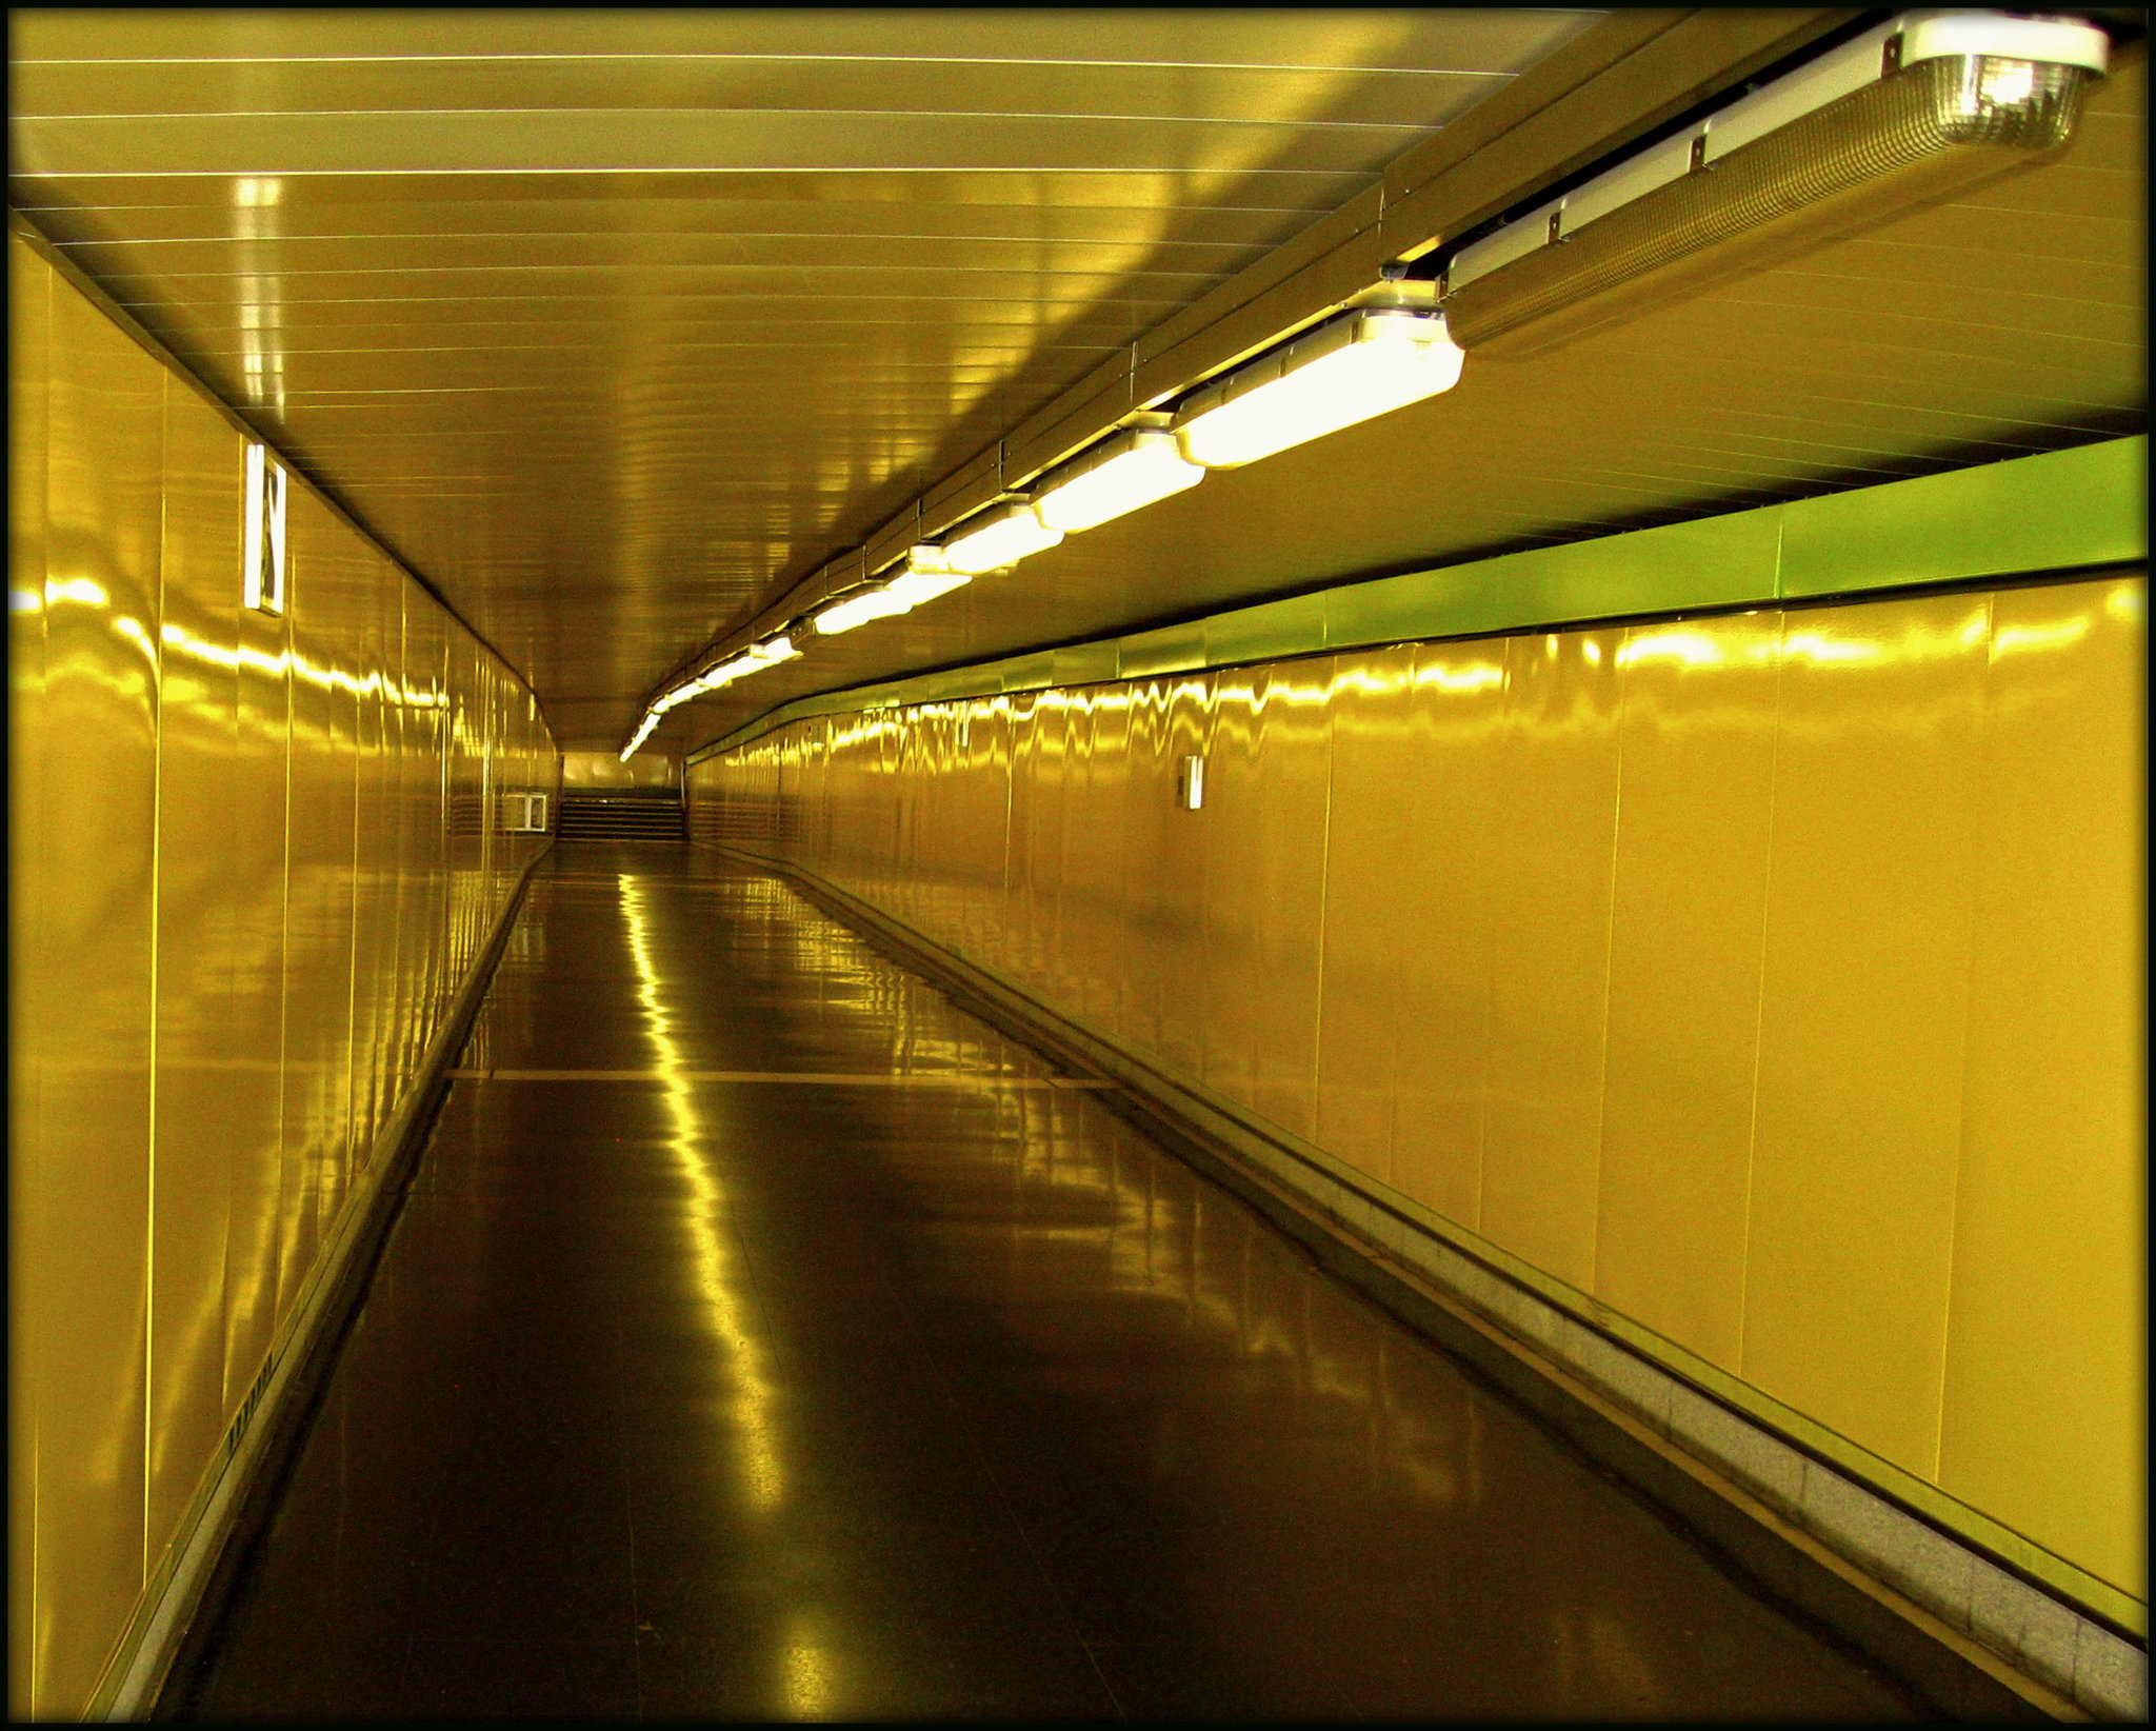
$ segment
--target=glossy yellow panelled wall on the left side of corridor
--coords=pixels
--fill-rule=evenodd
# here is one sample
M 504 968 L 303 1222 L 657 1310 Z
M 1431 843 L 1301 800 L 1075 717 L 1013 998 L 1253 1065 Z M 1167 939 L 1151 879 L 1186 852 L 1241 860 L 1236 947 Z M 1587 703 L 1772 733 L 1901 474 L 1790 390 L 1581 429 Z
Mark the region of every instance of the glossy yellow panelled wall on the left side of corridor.
M 241 608 L 241 435 L 19 239 L 9 269 L 9 1701 L 73 1718 L 541 845 L 489 811 L 554 748 L 298 481 L 291 606 Z

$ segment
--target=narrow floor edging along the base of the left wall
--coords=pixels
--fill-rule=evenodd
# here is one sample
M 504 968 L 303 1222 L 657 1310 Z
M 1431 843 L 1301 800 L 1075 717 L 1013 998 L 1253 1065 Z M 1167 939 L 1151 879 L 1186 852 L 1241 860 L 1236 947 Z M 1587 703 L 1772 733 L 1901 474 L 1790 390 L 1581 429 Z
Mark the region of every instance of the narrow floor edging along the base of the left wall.
M 533 871 L 550 851 L 552 843 L 524 862 L 524 873 L 502 901 L 472 972 L 457 987 L 448 1015 L 420 1058 L 403 1106 L 360 1175 L 358 1194 L 345 1207 L 336 1237 L 317 1259 L 282 1339 L 272 1343 L 257 1382 L 259 1397 L 241 1408 L 218 1466 L 196 1492 L 166 1554 L 162 1578 L 142 1595 L 86 1718 L 157 1718 L 168 1684 L 183 1668 L 181 1658 L 218 1621 L 220 1589 L 229 1587 L 231 1571 L 244 1563 L 246 1539 L 265 1515 L 263 1500 L 304 1440 L 306 1412 L 334 1369 L 336 1339 L 382 1255 L 397 1196 L 442 1104 L 448 1067 L 487 1000 Z

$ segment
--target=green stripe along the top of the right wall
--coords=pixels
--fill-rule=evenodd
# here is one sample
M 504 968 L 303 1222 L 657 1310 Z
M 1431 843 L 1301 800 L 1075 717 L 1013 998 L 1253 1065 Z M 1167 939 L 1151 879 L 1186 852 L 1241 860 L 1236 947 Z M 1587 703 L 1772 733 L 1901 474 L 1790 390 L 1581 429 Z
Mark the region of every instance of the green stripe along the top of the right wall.
M 765 711 L 688 761 L 746 746 L 806 716 L 1093 686 L 1380 642 L 2128 565 L 2147 558 L 2147 438 L 2137 435 L 1350 582 L 1156 632 L 819 692 Z

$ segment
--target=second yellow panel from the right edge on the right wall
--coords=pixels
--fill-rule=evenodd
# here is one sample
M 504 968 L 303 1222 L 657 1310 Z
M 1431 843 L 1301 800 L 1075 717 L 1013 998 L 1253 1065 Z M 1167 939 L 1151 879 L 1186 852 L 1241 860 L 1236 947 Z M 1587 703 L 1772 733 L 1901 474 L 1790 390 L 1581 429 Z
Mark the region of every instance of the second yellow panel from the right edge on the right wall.
M 1938 1466 L 1988 597 L 1783 627 L 1746 1382 Z

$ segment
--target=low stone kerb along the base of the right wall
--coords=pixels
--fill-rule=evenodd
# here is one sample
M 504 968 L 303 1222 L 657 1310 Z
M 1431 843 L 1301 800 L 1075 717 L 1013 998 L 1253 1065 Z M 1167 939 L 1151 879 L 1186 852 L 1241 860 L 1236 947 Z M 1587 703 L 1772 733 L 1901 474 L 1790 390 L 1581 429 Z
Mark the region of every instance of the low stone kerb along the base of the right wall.
M 2147 1716 L 2145 1647 L 817 873 L 742 847 L 716 851 L 796 884 L 1005 1033 L 1121 1082 L 1147 1134 L 1936 1705 L 1975 1718 Z

